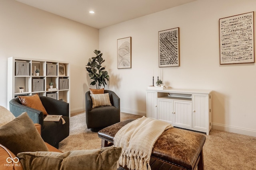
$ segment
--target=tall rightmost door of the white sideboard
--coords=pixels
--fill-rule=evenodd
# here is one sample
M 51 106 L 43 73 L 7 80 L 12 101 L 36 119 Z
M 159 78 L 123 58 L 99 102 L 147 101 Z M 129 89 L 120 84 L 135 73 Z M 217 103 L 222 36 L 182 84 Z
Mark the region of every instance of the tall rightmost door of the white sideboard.
M 208 95 L 193 94 L 193 128 L 207 131 L 208 122 Z

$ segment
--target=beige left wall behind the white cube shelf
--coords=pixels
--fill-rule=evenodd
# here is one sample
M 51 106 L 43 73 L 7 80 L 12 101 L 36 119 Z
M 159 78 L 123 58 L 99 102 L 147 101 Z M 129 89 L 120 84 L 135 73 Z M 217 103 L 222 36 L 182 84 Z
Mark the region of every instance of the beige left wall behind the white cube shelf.
M 26 57 L 69 62 L 71 113 L 84 110 L 89 82 L 85 65 L 98 47 L 96 28 L 15 0 L 0 0 L 0 105 L 7 107 L 8 57 Z

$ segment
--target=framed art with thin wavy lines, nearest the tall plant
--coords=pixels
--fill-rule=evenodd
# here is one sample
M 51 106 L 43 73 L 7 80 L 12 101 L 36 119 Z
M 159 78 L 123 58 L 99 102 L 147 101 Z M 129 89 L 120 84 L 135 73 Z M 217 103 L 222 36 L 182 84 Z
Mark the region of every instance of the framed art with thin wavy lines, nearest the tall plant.
M 117 40 L 117 68 L 132 68 L 132 37 Z

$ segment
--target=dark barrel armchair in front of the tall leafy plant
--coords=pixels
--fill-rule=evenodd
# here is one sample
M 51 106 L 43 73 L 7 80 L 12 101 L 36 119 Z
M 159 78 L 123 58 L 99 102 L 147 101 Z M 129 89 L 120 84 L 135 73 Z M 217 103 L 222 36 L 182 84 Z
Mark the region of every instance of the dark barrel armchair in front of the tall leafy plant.
M 112 106 L 92 108 L 90 91 L 85 94 L 86 124 L 94 132 L 120 122 L 120 98 L 110 90 L 104 90 L 104 93 L 109 94 Z

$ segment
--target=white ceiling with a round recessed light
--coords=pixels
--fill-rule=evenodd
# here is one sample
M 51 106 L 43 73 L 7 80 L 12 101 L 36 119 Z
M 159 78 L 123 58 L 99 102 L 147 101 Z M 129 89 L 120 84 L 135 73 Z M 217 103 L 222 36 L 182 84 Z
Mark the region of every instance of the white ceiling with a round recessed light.
M 195 0 L 16 0 L 95 28 L 166 10 Z M 93 10 L 95 14 L 90 14 Z

